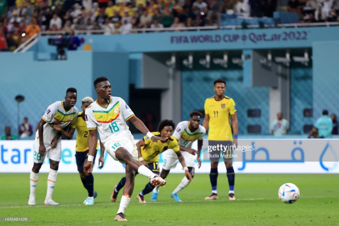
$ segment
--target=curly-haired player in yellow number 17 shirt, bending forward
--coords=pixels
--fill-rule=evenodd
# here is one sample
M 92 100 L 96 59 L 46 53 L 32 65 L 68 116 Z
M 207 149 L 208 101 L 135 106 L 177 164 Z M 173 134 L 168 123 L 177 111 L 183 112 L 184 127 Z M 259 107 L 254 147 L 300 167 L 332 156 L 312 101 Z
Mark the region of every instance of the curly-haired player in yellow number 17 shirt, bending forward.
M 143 137 L 138 141 L 137 150 L 139 161 L 143 163 L 148 169 L 150 169 L 154 174 L 159 175 L 159 155 L 166 150 L 173 150 L 178 157 L 183 169 L 185 170 L 185 176 L 191 181 L 192 176 L 188 171 L 184 157 L 182 156 L 178 141 L 175 137 L 172 136 L 173 130 L 176 127 L 172 120 L 162 120 L 158 126 L 158 132 L 152 132 L 155 136 L 160 136 L 162 138 L 168 138 L 167 141 L 151 141 L 148 136 Z M 135 173 L 137 175 L 138 173 Z M 111 195 L 111 201 L 115 202 L 116 197 L 120 189 L 124 187 L 126 183 L 126 178 L 122 178 L 117 185 L 115 185 L 113 193 Z M 151 183 L 147 183 L 145 189 L 140 192 L 137 196 L 140 203 L 145 203 L 144 195 L 152 192 L 155 188 Z

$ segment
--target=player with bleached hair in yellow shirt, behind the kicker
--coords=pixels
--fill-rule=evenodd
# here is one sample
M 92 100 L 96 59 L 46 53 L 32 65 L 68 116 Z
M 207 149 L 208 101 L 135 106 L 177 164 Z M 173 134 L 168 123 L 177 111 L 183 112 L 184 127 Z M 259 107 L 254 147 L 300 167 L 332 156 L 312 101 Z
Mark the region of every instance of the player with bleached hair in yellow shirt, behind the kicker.
M 88 176 L 85 176 L 83 172 L 83 164 L 85 160 L 88 157 L 88 139 L 89 139 L 89 132 L 87 130 L 86 121 L 85 121 L 85 109 L 93 103 L 92 97 L 84 97 L 81 100 L 81 110 L 82 112 L 79 113 L 78 117 L 76 118 L 75 122 L 71 125 L 68 132 L 66 132 L 64 129 L 61 129 L 60 125 L 55 125 L 54 129 L 59 130 L 61 134 L 63 134 L 67 139 L 72 139 L 75 129 L 77 129 L 77 144 L 76 144 L 76 154 L 75 159 L 77 161 L 78 171 L 80 174 L 81 182 L 85 189 L 88 191 L 88 197 L 83 202 L 85 205 L 93 205 L 94 204 L 94 198 L 97 197 L 97 192 L 94 191 L 94 178 L 93 175 L 90 174 Z M 97 144 L 97 149 L 98 149 Z M 99 168 L 101 169 L 104 166 L 104 153 L 105 149 L 104 146 L 100 142 L 100 149 L 101 149 L 101 155 L 99 158 Z M 96 151 L 97 155 L 97 151 Z M 94 156 L 95 158 L 95 156 Z

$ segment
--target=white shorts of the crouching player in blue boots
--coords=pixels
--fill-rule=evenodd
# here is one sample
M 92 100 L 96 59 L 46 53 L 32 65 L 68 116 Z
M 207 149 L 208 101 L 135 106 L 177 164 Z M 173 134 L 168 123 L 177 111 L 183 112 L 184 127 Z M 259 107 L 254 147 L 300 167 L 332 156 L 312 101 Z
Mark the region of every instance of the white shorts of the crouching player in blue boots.
M 175 152 L 174 150 L 168 149 L 163 153 L 164 161 L 163 161 L 162 169 L 170 170 L 170 169 L 176 168 L 179 160 L 178 160 L 177 155 L 174 152 Z M 195 159 L 194 155 L 188 153 L 187 151 L 181 151 L 181 154 L 185 159 L 186 166 L 194 168 L 194 159 Z

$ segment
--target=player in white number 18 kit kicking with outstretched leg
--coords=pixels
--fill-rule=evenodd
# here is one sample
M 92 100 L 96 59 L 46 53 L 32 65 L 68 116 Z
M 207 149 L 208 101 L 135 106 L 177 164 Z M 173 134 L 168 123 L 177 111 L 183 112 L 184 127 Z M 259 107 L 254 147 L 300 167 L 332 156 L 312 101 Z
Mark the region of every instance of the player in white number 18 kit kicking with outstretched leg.
M 152 141 L 166 141 L 168 138 L 154 136 L 148 131 L 145 124 L 137 118 L 126 102 L 120 97 L 112 97 L 111 83 L 106 77 L 98 77 L 94 81 L 97 100 L 87 107 L 85 120 L 89 130 L 89 155 L 84 166 L 85 173 L 93 171 L 93 159 L 97 147 L 97 131 L 105 150 L 115 161 L 126 163 L 126 184 L 120 201 L 115 221 L 127 221 L 125 210 L 133 193 L 135 172 L 150 178 L 154 186 L 164 186 L 166 181 L 150 171 L 138 159 L 138 151 L 134 138 L 126 125 L 131 121 L 141 132 Z

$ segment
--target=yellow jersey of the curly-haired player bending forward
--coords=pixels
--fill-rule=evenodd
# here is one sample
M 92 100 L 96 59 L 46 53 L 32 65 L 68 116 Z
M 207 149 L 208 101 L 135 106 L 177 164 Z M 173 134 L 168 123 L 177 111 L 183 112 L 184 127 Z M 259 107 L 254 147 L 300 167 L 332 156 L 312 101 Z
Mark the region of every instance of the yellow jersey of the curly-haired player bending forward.
M 152 132 L 155 136 L 160 136 L 160 132 Z M 147 136 L 144 136 L 145 146 L 141 146 L 141 156 L 147 163 L 159 161 L 159 154 L 167 149 L 173 149 L 175 152 L 180 150 L 178 141 L 175 137 L 171 136 L 165 143 L 153 142 Z

